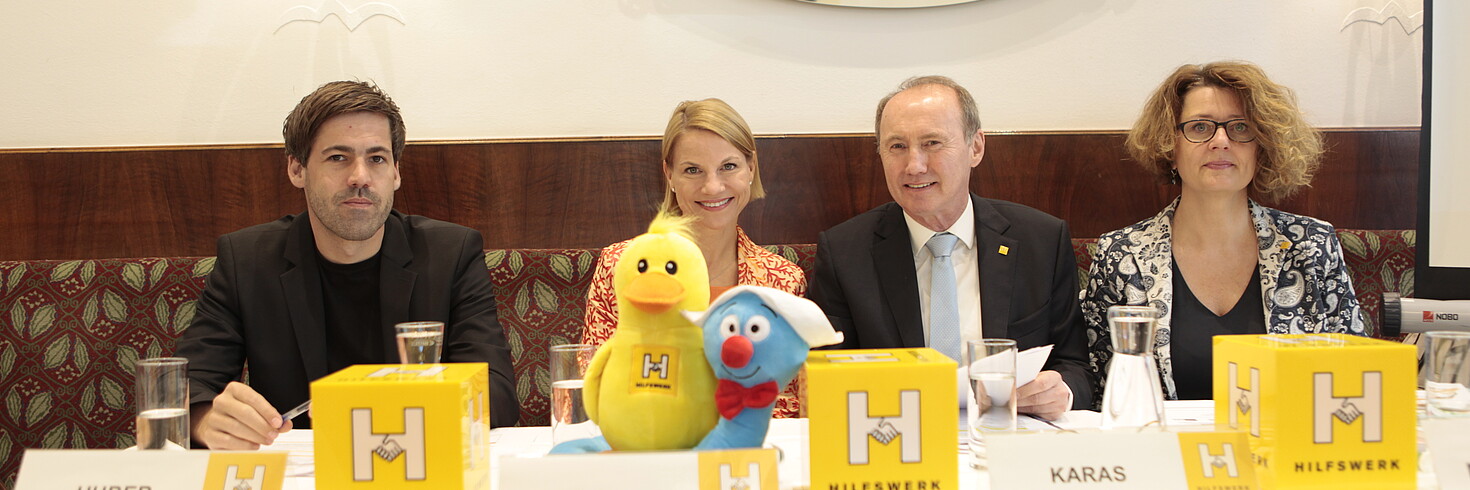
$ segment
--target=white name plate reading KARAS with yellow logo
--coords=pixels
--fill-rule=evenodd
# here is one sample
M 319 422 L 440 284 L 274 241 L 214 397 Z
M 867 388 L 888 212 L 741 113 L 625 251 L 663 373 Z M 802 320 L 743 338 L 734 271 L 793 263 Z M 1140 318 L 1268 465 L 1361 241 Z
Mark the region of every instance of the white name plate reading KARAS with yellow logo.
M 992 489 L 1258 489 L 1244 433 L 1048 433 L 988 444 Z

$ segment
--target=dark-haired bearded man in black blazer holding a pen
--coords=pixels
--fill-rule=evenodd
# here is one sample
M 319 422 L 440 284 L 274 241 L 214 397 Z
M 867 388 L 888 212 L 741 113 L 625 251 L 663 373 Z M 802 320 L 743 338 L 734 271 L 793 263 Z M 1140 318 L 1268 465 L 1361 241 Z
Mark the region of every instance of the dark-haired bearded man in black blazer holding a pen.
M 176 352 L 190 361 L 190 424 L 210 449 L 256 449 L 309 384 L 354 363 L 397 363 L 394 324 L 441 321 L 444 362 L 490 363 L 491 424 L 520 418 L 475 230 L 392 210 L 404 129 L 366 82 L 322 85 L 287 116 L 287 175 L 307 212 L 219 238 Z M 238 383 L 250 366 L 250 384 Z

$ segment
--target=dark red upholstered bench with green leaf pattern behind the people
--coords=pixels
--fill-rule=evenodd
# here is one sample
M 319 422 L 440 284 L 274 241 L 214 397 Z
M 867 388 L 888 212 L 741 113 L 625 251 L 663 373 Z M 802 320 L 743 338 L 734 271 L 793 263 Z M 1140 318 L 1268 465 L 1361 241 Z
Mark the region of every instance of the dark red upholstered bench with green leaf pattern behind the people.
M 1366 316 L 1413 293 L 1413 231 L 1339 231 Z M 1094 240 L 1073 240 L 1079 278 Z M 770 246 L 811 271 L 811 244 Z M 547 347 L 578 341 L 595 249 L 487 250 L 520 425 L 545 425 Z M 173 352 L 213 258 L 0 262 L 0 489 L 26 447 L 132 446 L 132 366 Z

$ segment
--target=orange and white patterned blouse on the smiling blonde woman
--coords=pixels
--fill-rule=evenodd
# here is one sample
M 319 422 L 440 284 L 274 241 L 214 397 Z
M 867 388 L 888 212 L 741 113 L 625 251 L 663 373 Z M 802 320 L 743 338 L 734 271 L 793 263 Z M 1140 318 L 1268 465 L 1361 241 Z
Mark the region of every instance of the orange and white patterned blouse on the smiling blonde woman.
M 587 290 L 587 330 L 582 331 L 582 343 L 601 346 L 613 337 L 613 330 L 617 328 L 613 265 L 617 263 L 617 258 L 623 256 L 623 249 L 628 249 L 631 241 L 623 240 L 607 246 L 597 259 L 592 284 Z M 773 287 L 797 296 L 807 294 L 807 274 L 791 260 L 757 246 L 739 227 L 735 227 L 735 260 L 738 260 L 735 281 L 739 284 Z M 792 380 L 791 386 L 776 397 L 775 416 L 798 416 L 801 412 L 797 393 L 798 381 L 800 378 Z

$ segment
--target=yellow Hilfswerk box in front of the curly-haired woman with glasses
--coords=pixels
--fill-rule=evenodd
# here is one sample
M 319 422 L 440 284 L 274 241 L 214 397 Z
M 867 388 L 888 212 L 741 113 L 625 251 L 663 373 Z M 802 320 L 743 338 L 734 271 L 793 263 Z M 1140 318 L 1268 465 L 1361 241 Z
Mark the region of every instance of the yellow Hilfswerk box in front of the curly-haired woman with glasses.
M 1414 346 L 1214 337 L 1214 422 L 1250 434 L 1266 489 L 1414 489 Z

